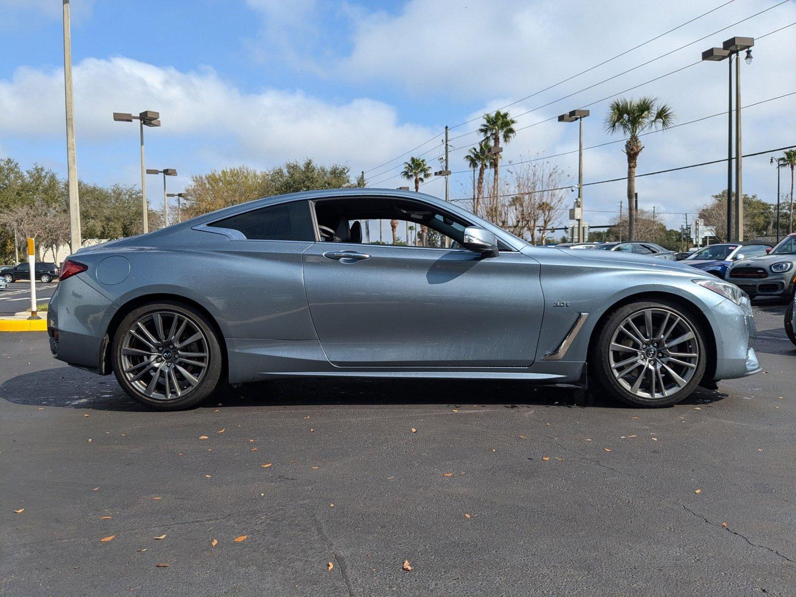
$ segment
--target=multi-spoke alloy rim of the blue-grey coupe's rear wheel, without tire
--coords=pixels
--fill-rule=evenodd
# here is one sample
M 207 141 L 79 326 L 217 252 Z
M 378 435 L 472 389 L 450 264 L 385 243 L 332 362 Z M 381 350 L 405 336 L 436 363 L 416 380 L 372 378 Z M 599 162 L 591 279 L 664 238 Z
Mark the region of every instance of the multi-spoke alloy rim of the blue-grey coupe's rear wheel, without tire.
M 127 383 L 152 400 L 185 397 L 209 365 L 205 333 L 191 318 L 170 310 L 135 320 L 124 334 L 120 356 Z

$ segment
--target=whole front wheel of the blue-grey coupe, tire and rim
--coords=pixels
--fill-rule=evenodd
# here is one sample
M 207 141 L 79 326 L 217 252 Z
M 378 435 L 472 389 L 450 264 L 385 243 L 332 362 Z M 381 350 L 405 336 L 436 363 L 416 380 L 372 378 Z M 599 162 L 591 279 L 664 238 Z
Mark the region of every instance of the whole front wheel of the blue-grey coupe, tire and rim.
M 619 307 L 598 334 L 591 369 L 601 388 L 625 404 L 677 404 L 704 375 L 704 332 L 689 310 L 677 303 L 634 302 Z

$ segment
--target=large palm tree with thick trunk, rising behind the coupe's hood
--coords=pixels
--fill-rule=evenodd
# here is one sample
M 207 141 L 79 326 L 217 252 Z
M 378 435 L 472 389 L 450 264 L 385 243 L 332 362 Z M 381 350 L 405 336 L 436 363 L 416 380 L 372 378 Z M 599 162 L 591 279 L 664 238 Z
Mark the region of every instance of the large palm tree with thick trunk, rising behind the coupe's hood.
M 627 221 L 629 240 L 635 240 L 635 201 L 636 193 L 636 166 L 638 154 L 644 146 L 638 139 L 644 131 L 666 129 L 674 123 L 674 112 L 665 103 L 654 97 L 640 97 L 638 100 L 620 98 L 611 102 L 608 115 L 605 119 L 606 131 L 610 133 L 622 132 L 627 135 L 625 154 L 627 154 Z

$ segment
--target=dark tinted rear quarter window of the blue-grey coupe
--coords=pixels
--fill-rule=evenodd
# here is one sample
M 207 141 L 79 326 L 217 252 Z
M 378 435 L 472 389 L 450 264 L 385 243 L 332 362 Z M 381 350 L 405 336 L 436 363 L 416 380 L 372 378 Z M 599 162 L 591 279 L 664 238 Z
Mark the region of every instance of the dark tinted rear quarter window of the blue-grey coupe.
M 306 201 L 253 209 L 209 225 L 238 230 L 249 240 L 315 240 L 310 205 Z

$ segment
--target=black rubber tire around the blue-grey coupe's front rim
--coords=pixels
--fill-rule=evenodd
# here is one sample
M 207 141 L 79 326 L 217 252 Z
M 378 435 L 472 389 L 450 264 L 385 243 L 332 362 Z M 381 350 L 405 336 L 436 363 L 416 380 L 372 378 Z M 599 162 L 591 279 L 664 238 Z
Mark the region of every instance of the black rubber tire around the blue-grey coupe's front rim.
M 687 383 L 677 389 L 671 389 L 672 393 L 668 395 L 666 395 L 667 390 L 665 389 L 664 392 L 661 392 L 661 396 L 655 396 L 656 392 L 654 387 L 650 388 L 646 392 L 650 396 L 638 396 L 637 394 L 634 394 L 630 391 L 631 388 L 624 387 L 622 382 L 615 377 L 613 371 L 617 365 L 615 364 L 614 367 L 612 367 L 611 361 L 609 359 L 611 342 L 615 334 L 619 333 L 619 326 L 622 326 L 622 323 L 626 321 L 626 318 L 636 317 L 637 314 L 642 314 L 643 311 L 650 309 L 656 310 L 656 313 L 658 313 L 657 317 L 661 319 L 665 317 L 666 312 L 669 313 L 669 318 L 671 318 L 672 314 L 676 315 L 683 320 L 685 329 L 693 330 L 693 340 L 689 339 L 687 341 L 689 343 L 693 342 L 693 348 L 696 348 L 696 366 L 693 367 L 693 370 L 689 368 L 689 370 L 693 371 L 693 374 L 691 374 L 691 377 L 689 377 Z M 668 325 L 666 322 L 669 321 L 669 319 L 666 319 L 665 322 L 660 321 L 659 326 L 663 327 Z M 661 333 L 661 330 L 654 332 L 654 334 L 658 333 Z M 688 396 L 690 396 L 694 389 L 696 389 L 697 385 L 700 384 L 707 365 L 708 353 L 705 348 L 706 342 L 704 339 L 704 330 L 702 330 L 699 320 L 694 316 L 694 310 L 684 308 L 678 302 L 668 301 L 663 298 L 654 302 L 639 301 L 618 307 L 608 315 L 602 325 L 599 326 L 599 329 L 595 330 L 595 339 L 596 341 L 592 343 L 593 348 L 589 353 L 589 369 L 594 377 L 594 380 L 599 386 L 597 391 L 606 392 L 611 398 L 624 404 L 630 404 L 631 406 L 660 408 L 670 406 L 671 404 L 677 404 L 678 402 L 681 402 L 681 400 L 685 400 Z M 630 345 L 628 346 L 630 348 Z M 655 343 L 655 346 L 657 347 L 657 343 Z M 651 344 L 649 345 L 649 349 L 652 349 Z M 656 352 L 657 350 L 666 349 L 665 347 L 661 346 L 660 349 L 655 349 Z M 643 366 L 643 362 L 646 357 L 644 351 L 642 349 L 629 349 L 626 352 L 630 353 L 630 357 L 632 358 L 634 351 L 638 353 L 638 361 L 641 363 L 641 365 L 637 366 L 642 366 L 642 371 L 644 372 L 643 375 L 646 375 L 648 369 L 646 366 Z M 661 359 L 656 360 L 655 357 L 656 355 L 653 355 L 653 363 L 661 361 Z M 657 357 L 661 357 L 661 353 L 657 353 Z M 667 363 L 671 362 L 667 360 L 667 357 L 663 357 L 663 359 Z M 630 365 L 633 364 L 634 363 L 632 362 L 630 363 Z M 624 366 L 622 366 L 622 369 L 623 368 Z M 654 371 L 654 369 L 652 370 Z M 674 377 L 665 372 L 664 369 L 661 369 L 661 372 L 665 374 L 665 377 L 661 376 L 661 380 L 664 382 L 666 380 L 672 382 L 674 381 Z M 665 387 L 666 386 L 664 385 L 664 388 Z M 639 388 L 639 390 L 643 391 L 643 388 Z

